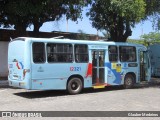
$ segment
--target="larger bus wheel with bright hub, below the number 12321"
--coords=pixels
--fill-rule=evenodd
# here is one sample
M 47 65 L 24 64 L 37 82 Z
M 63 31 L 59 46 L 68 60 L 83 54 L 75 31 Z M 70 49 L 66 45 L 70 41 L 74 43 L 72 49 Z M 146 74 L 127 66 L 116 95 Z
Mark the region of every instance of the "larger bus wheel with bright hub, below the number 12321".
M 83 85 L 80 78 L 71 78 L 67 84 L 67 91 L 69 94 L 75 95 L 82 91 Z

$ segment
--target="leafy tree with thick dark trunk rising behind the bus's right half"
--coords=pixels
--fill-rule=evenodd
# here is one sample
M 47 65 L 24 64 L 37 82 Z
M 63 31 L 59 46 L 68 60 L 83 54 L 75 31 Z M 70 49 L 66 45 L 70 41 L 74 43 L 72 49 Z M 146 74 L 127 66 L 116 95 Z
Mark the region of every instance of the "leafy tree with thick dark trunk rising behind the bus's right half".
M 125 42 L 131 36 L 131 27 L 145 15 L 143 0 L 94 0 L 87 13 L 92 26 L 110 33 L 112 41 Z

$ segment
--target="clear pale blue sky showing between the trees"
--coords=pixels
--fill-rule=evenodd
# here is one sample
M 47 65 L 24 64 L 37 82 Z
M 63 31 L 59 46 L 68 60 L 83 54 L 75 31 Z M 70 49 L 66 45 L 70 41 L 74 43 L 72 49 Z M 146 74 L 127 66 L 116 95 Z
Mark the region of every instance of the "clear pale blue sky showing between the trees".
M 92 22 L 86 17 L 86 11 L 88 8 L 84 8 L 82 12 L 83 19 L 78 19 L 78 22 L 73 22 L 68 20 L 68 23 L 63 17 L 61 20 L 57 22 L 46 22 L 40 28 L 42 32 L 51 32 L 51 31 L 62 31 L 62 32 L 75 32 L 77 33 L 78 30 L 82 30 L 84 33 L 87 34 L 95 34 L 97 35 L 97 30 L 92 27 Z M 27 28 L 28 31 L 33 30 L 33 26 Z M 143 34 L 148 34 L 149 32 L 154 32 L 152 28 L 152 22 L 147 20 L 136 24 L 134 28 L 132 28 L 132 36 L 130 39 L 140 39 L 140 36 Z M 101 31 L 98 31 L 98 35 L 103 36 Z

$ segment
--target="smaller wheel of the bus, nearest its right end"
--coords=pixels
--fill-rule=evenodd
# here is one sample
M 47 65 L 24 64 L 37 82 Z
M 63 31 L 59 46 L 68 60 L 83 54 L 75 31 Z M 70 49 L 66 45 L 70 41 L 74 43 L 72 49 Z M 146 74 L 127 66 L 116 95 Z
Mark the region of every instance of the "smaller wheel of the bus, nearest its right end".
M 133 75 L 127 74 L 124 79 L 124 88 L 126 88 L 126 89 L 133 88 L 134 83 L 135 83 L 135 79 L 134 79 Z

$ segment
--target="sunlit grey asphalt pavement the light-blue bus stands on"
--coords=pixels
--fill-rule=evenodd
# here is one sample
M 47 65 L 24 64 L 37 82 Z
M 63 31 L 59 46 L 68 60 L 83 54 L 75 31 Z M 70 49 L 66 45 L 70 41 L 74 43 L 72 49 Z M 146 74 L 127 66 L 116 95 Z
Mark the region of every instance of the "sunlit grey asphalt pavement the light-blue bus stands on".
M 0 111 L 160 111 L 160 80 L 133 89 L 84 89 L 78 95 L 1 87 Z

